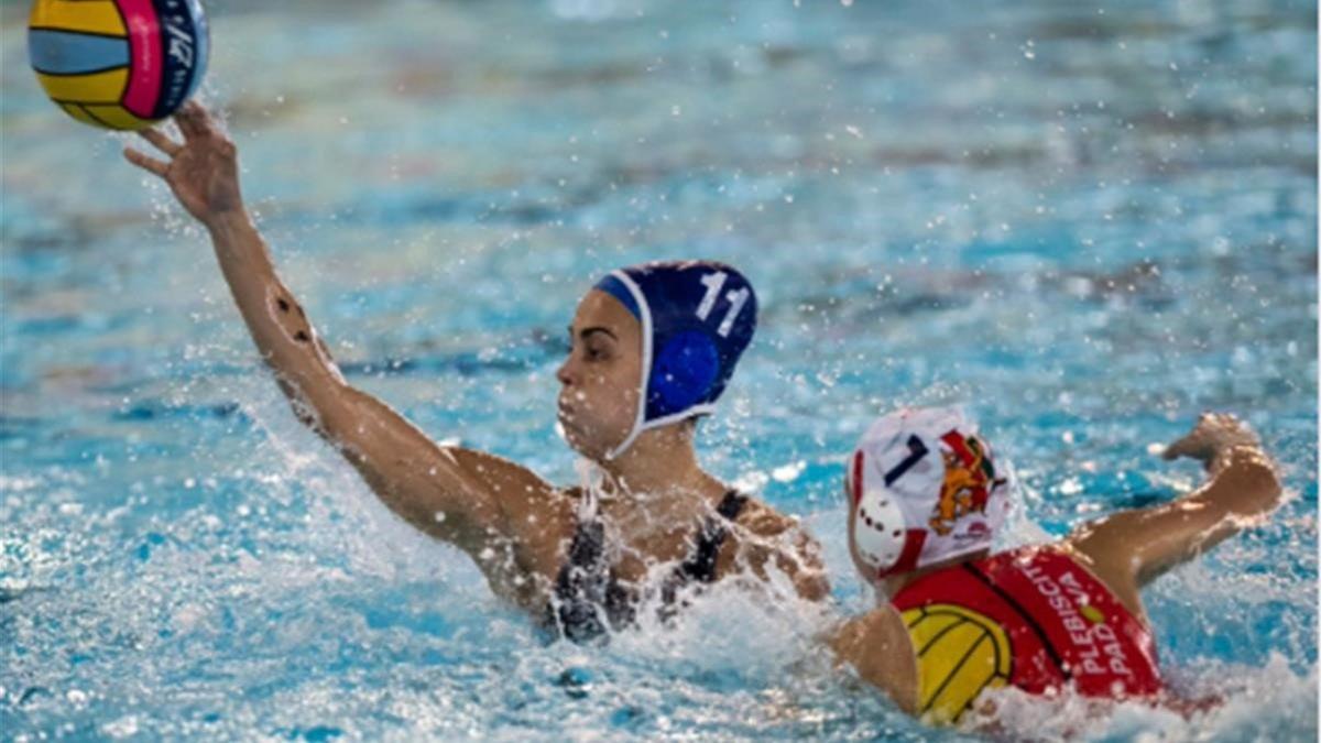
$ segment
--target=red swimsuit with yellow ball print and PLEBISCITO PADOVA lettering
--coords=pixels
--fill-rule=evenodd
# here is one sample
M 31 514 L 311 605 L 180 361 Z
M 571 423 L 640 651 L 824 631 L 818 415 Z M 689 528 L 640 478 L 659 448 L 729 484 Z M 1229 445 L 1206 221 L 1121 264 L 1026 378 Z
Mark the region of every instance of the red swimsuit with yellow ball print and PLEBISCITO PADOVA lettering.
M 987 686 L 1089 697 L 1161 690 L 1151 632 L 1066 554 L 1025 547 L 923 575 L 894 596 L 918 657 L 919 711 L 954 721 Z

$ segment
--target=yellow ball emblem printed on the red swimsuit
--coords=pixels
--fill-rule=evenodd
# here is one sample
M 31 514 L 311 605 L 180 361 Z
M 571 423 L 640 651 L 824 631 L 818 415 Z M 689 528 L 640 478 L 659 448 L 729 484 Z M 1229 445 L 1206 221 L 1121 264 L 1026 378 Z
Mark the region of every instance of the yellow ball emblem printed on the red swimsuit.
M 1009 682 L 1013 645 L 991 617 L 955 604 L 911 608 L 902 616 L 917 653 L 923 721 L 952 723 L 983 690 Z

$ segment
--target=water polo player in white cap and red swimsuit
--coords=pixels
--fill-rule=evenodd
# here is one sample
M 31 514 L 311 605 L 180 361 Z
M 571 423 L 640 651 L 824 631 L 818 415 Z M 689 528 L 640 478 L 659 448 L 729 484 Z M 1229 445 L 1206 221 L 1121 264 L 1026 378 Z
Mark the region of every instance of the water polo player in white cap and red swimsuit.
M 1140 590 L 1258 524 L 1281 490 L 1231 415 L 1203 415 L 1165 448 L 1180 456 L 1206 467 L 1196 492 L 992 554 L 1015 498 L 1008 464 L 955 409 L 882 416 L 845 475 L 849 554 L 881 606 L 835 633 L 836 657 L 931 723 L 992 722 L 982 693 L 1000 686 L 1197 709 L 1164 689 Z

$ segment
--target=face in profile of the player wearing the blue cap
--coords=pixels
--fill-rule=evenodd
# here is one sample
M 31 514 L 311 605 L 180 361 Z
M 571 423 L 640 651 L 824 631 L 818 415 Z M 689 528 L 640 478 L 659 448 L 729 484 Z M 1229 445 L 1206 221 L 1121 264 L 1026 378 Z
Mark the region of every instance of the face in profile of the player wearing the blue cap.
M 564 439 L 583 456 L 604 459 L 629 435 L 638 414 L 642 325 L 609 293 L 587 292 L 556 378 Z

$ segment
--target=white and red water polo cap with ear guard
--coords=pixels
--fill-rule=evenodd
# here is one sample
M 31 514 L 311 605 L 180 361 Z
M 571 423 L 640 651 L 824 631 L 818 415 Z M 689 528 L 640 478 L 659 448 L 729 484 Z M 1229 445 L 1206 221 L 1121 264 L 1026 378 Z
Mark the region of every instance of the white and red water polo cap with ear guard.
M 849 461 L 849 543 L 878 580 L 991 546 L 1013 501 L 1008 463 L 955 407 L 878 418 Z

